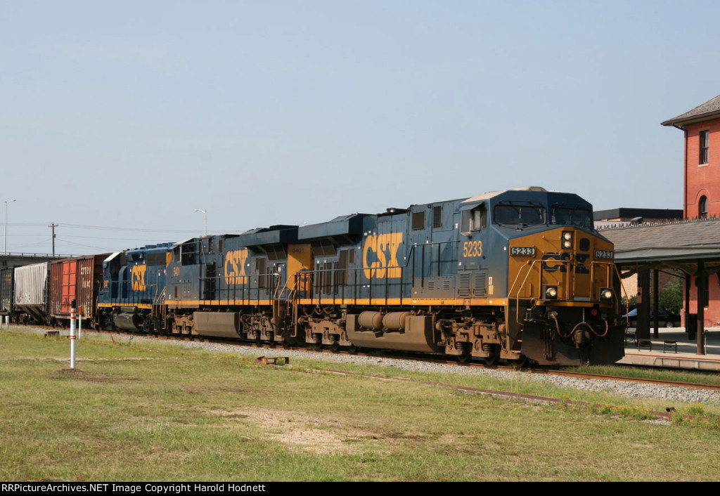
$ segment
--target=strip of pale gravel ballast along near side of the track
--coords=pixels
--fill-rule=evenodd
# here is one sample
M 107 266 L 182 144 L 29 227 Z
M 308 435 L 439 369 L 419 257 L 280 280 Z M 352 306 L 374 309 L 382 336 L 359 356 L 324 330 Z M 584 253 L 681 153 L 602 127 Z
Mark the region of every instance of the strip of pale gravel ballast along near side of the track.
M 35 328 L 38 332 L 45 332 L 44 329 Z M 67 330 L 63 334 L 68 333 Z M 130 339 L 131 336 L 125 334 L 114 334 L 114 338 Z M 141 336 L 132 336 L 136 341 L 151 340 L 154 338 L 143 338 Z M 636 398 L 654 398 L 659 400 L 674 400 L 688 403 L 705 403 L 720 404 L 720 393 L 707 391 L 704 389 L 692 389 L 688 387 L 675 386 L 658 386 L 653 384 L 641 384 L 636 382 L 625 381 L 608 381 L 599 379 L 575 379 L 571 377 L 560 377 L 539 374 L 525 374 L 516 371 L 498 371 L 492 369 L 480 369 L 459 367 L 445 364 L 431 364 L 423 361 L 411 361 L 390 359 L 378 356 L 357 356 L 346 354 L 330 354 L 318 353 L 315 351 L 294 351 L 284 348 L 253 348 L 251 346 L 234 346 L 221 343 L 207 343 L 200 341 L 166 341 L 167 343 L 175 343 L 177 346 L 185 346 L 187 348 L 202 348 L 207 351 L 217 351 L 221 353 L 238 353 L 243 355 L 259 356 L 289 356 L 291 358 L 301 358 L 308 360 L 318 360 L 325 362 L 337 362 L 371 366 L 395 367 L 396 369 L 435 372 L 442 374 L 485 374 L 500 379 L 518 379 L 518 375 L 523 380 L 549 382 L 558 387 L 585 389 L 588 391 L 605 391 L 615 394 L 621 394 L 626 397 Z

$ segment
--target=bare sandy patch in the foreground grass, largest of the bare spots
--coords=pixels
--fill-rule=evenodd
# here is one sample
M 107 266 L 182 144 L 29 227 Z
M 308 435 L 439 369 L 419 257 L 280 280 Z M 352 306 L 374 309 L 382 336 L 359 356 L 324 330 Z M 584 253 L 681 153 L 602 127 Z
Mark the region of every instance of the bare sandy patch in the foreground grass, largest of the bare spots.
M 233 410 L 210 413 L 227 419 L 241 419 L 266 430 L 266 436 L 292 448 L 316 454 L 356 453 L 360 441 L 372 439 L 366 432 L 348 428 L 339 423 L 328 425 L 298 412 L 279 410 Z

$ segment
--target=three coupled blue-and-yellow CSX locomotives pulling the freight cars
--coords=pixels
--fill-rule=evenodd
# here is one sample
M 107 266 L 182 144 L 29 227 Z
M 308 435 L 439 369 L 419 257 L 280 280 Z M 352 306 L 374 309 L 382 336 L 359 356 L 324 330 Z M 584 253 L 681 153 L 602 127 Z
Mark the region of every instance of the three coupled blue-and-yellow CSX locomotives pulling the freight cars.
M 612 363 L 619 281 L 592 206 L 529 187 L 113 253 L 84 326 Z

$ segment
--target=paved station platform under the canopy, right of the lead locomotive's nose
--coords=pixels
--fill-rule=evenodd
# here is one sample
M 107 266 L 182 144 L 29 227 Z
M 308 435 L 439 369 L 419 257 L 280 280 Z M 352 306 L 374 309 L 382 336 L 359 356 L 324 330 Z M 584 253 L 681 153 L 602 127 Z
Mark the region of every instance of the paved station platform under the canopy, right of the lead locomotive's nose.
M 697 337 L 690 341 L 685 328 L 662 328 L 657 338 L 653 336 L 651 329 L 651 341 L 639 348 L 635 341 L 626 341 L 625 357 L 618 364 L 720 372 L 720 328 L 706 328 L 705 355 L 698 355 Z

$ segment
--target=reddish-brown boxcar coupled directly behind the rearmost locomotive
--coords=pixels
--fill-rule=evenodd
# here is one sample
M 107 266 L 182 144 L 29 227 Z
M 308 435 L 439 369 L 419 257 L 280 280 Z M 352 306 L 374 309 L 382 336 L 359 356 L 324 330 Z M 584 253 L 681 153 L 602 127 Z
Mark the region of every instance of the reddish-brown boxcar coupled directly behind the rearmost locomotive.
M 102 262 L 110 253 L 64 258 L 50 263 L 50 322 L 69 325 L 76 300 L 84 328 L 95 327 L 97 294 L 102 285 Z

